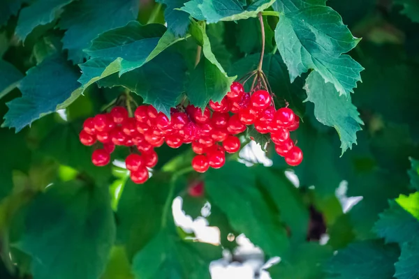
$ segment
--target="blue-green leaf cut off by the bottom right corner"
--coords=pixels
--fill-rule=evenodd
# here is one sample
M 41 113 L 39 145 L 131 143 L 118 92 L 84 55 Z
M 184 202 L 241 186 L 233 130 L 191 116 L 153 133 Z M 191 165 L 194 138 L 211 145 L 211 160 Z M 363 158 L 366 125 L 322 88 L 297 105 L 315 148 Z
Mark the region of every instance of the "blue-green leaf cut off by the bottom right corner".
M 403 243 L 402 253 L 399 262 L 395 263 L 397 279 L 416 279 L 419 278 L 418 257 L 419 239 Z

